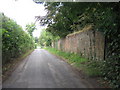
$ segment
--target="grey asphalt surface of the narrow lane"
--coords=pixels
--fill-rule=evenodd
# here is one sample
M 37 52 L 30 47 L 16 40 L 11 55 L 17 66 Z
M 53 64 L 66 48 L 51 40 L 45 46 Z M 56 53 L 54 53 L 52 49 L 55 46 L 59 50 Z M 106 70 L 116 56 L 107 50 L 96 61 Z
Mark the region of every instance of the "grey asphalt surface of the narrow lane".
M 91 87 L 70 65 L 43 49 L 35 49 L 3 83 L 3 88 Z

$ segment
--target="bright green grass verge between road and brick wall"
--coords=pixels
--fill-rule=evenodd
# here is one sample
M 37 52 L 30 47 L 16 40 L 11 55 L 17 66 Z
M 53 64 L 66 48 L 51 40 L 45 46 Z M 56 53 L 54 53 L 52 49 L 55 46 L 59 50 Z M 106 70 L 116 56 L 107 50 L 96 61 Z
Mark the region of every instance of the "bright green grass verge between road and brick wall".
M 63 59 L 65 59 L 69 64 L 73 65 L 78 70 L 84 72 L 87 76 L 90 77 L 98 77 L 101 76 L 100 68 L 97 61 L 88 60 L 86 58 L 81 57 L 75 53 L 67 53 L 63 51 L 56 50 L 54 48 L 44 48 L 45 50 L 55 54 Z

